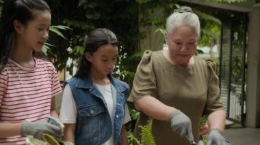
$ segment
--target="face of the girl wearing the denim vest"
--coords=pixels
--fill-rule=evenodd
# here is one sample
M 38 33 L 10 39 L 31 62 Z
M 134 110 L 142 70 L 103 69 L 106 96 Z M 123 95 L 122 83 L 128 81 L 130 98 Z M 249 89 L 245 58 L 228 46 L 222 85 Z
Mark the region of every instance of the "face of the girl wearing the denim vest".
M 100 46 L 93 54 L 85 54 L 85 57 L 91 63 L 92 74 L 107 76 L 116 65 L 118 46 L 105 44 Z

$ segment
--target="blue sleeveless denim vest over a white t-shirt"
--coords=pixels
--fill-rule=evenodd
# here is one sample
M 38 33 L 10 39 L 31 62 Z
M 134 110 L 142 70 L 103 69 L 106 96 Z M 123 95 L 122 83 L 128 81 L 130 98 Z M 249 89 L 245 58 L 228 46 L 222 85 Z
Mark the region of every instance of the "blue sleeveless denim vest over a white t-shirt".
M 129 85 L 111 74 L 108 76 L 112 84 L 114 100 L 114 144 L 120 144 L 120 131 L 125 116 Z M 70 86 L 77 107 L 75 144 L 99 145 L 109 140 L 112 135 L 112 120 L 105 99 L 91 78 L 73 77 L 67 80 L 64 86 L 66 84 Z

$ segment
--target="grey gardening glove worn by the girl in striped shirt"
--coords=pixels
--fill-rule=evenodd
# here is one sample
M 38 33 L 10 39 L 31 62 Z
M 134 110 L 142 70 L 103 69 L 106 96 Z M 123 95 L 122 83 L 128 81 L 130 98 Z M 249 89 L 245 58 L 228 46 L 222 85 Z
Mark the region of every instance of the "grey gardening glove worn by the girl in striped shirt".
M 22 123 L 22 136 L 32 135 L 34 138 L 42 140 L 43 133 L 53 135 L 55 138 L 62 138 L 62 129 L 52 125 L 51 123 L 48 123 L 47 120 L 39 120 L 37 122 L 29 122 L 25 120 Z

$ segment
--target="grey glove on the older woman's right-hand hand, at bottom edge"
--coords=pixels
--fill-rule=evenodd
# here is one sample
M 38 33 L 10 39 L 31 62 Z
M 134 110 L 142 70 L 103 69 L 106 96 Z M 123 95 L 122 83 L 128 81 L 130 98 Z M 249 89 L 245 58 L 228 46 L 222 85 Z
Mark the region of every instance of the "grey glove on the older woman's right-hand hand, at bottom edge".
M 209 131 L 207 145 L 230 145 L 223 137 L 222 132 L 218 129 Z

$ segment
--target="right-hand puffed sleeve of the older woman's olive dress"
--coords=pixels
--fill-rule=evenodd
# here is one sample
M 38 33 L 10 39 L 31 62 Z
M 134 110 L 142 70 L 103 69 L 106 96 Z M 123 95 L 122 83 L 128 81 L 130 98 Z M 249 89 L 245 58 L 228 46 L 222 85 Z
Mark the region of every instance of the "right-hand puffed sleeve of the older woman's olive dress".
M 219 80 L 217 74 L 214 71 L 215 64 L 213 63 L 213 61 L 207 61 L 207 68 L 209 74 L 209 82 L 207 91 L 207 103 L 204 111 L 204 114 L 206 116 L 214 111 L 224 110 L 220 98 Z

